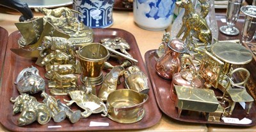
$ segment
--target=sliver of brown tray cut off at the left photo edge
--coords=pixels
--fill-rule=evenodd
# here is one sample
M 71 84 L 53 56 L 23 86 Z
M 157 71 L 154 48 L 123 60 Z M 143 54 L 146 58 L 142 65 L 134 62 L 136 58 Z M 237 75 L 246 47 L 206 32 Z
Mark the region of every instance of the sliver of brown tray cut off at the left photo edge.
M 2 69 L 3 69 L 3 64 L 4 64 L 4 55 L 6 52 L 7 41 L 8 41 L 8 31 L 6 31 L 6 29 L 4 29 L 3 27 L 0 27 L 0 77 L 2 75 Z M 2 80 L 2 78 L 0 78 L 0 80 Z M 1 83 L 1 81 L 0 81 L 0 83 Z

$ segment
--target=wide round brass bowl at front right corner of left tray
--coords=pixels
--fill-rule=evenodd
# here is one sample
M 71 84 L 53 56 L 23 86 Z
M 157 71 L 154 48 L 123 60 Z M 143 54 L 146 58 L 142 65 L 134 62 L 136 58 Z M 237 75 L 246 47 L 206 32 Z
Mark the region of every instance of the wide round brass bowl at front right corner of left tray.
M 107 99 L 109 119 L 130 124 L 138 122 L 145 116 L 143 104 L 148 95 L 130 89 L 119 89 L 109 94 Z

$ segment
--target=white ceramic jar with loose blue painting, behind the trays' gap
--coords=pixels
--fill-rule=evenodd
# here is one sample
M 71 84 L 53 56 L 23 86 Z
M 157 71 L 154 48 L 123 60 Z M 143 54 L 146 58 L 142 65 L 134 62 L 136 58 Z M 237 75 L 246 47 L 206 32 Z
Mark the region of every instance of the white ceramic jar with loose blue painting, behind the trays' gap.
M 134 22 L 143 29 L 160 31 L 170 26 L 176 0 L 134 0 Z

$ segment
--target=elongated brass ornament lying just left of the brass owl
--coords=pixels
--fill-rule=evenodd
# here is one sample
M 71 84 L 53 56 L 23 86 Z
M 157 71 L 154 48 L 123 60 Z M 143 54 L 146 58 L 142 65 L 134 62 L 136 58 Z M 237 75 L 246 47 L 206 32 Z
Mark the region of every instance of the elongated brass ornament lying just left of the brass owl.
M 103 83 L 100 87 L 98 97 L 102 99 L 102 101 L 107 101 L 108 95 L 116 90 L 116 86 L 120 80 L 119 77 L 124 74 L 124 67 L 115 66 L 103 80 Z

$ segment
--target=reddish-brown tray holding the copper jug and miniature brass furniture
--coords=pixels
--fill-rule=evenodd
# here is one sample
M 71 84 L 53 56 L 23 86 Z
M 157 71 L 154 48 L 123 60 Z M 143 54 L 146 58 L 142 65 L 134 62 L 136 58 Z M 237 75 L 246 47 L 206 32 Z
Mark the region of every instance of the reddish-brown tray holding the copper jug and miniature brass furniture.
M 170 97 L 171 90 L 171 81 L 164 80 L 159 77 L 156 73 L 156 50 L 149 50 L 145 54 L 145 61 L 148 69 L 148 74 L 152 83 L 152 87 L 154 89 L 154 93 L 156 96 L 157 104 L 159 108 L 166 114 L 168 117 L 179 121 L 185 122 L 196 122 L 196 123 L 205 123 L 205 124 L 223 124 L 223 125 L 232 125 L 232 126 L 254 126 L 256 124 L 256 105 L 255 102 L 252 105 L 252 109 L 250 110 L 250 114 L 246 115 L 246 110 L 236 104 L 234 111 L 231 117 L 243 119 L 244 117 L 251 119 L 251 124 L 229 124 L 223 121 L 221 122 L 209 122 L 205 119 L 204 115 L 200 112 L 188 112 L 188 110 L 182 110 L 182 114 L 180 117 L 178 116 L 178 110 L 175 108 L 175 101 L 173 101 Z M 214 89 L 215 94 L 220 95 L 220 91 L 218 89 Z

